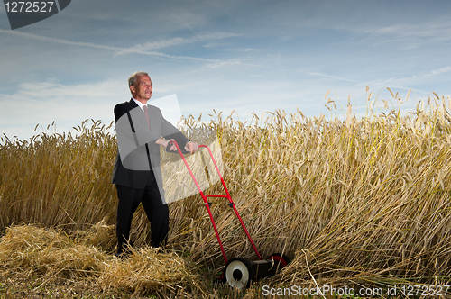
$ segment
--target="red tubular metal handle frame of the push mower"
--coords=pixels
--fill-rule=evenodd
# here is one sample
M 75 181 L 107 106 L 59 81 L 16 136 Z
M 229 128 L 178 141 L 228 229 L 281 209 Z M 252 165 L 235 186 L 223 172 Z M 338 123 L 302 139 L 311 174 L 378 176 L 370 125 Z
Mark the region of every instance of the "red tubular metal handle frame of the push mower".
M 189 164 L 188 164 L 187 160 L 185 159 L 185 156 L 183 156 L 183 153 L 181 152 L 181 150 L 179 148 L 179 145 L 174 140 L 170 140 L 170 143 L 174 144 L 177 147 L 177 150 L 179 151 L 179 155 L 180 155 L 181 159 L 183 159 L 183 162 L 185 162 L 185 166 L 188 168 L 189 174 L 191 175 L 191 177 L 192 177 L 194 183 L 196 184 L 196 186 L 198 187 L 198 192 L 200 193 L 200 195 L 202 196 L 202 199 L 204 200 L 204 203 L 205 203 L 205 205 L 207 207 L 208 216 L 210 216 L 211 223 L 213 224 L 213 229 L 215 230 L 215 233 L 216 233 L 217 242 L 219 243 L 219 247 L 221 248 L 221 252 L 222 252 L 223 257 L 224 257 L 224 261 L 227 263 L 226 251 L 224 250 L 223 243 L 221 242 L 221 239 L 219 238 L 219 232 L 216 229 L 215 220 L 213 219 L 213 214 L 211 213 L 210 204 L 208 204 L 207 197 L 224 197 L 224 198 L 228 199 L 229 203 L 231 204 L 231 207 L 235 211 L 236 217 L 238 217 L 238 220 L 241 223 L 241 226 L 243 227 L 243 230 L 244 230 L 244 232 L 245 232 L 245 234 L 247 236 L 247 239 L 249 239 L 249 241 L 252 244 L 253 250 L 255 251 L 257 257 L 262 260 L 263 259 L 262 256 L 260 255 L 260 253 L 258 252 L 257 248 L 255 247 L 255 244 L 253 243 L 253 240 L 251 238 L 251 235 L 249 234 L 249 231 L 247 231 L 246 227 L 244 226 L 244 222 L 243 222 L 243 220 L 240 217 L 240 214 L 236 210 L 235 203 L 232 201 L 232 197 L 230 196 L 230 194 L 228 192 L 228 189 L 226 187 L 226 183 L 224 182 L 224 178 L 221 176 L 221 173 L 219 172 L 219 168 L 217 167 L 216 160 L 213 157 L 213 154 L 212 154 L 211 150 L 207 147 L 207 145 L 201 144 L 201 145 L 198 146 L 199 148 L 206 148 L 208 150 L 208 153 L 210 154 L 210 157 L 211 157 L 213 163 L 215 164 L 217 175 L 221 178 L 221 183 L 224 186 L 224 190 L 226 191 L 226 195 L 204 195 L 204 193 L 202 192 L 202 189 L 198 185 L 198 180 L 196 179 L 196 177 L 194 177 L 193 172 L 191 171 L 191 168 L 189 168 Z

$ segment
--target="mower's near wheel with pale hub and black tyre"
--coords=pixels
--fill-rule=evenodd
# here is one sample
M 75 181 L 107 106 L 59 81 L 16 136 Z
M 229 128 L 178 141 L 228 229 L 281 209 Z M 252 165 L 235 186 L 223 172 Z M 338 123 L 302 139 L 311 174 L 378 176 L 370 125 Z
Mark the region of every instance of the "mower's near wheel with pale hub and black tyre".
M 251 263 L 244 258 L 232 258 L 225 267 L 224 273 L 226 274 L 227 284 L 242 289 L 250 285 L 253 279 L 253 267 Z

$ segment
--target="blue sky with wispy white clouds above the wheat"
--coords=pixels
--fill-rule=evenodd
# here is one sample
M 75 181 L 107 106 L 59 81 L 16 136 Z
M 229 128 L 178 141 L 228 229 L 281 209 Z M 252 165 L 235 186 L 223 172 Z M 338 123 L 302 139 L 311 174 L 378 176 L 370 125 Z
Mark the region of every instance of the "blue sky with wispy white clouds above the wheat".
M 434 0 L 72 0 L 13 31 L 2 6 L 0 134 L 109 123 L 136 70 L 150 73 L 152 100 L 175 94 L 181 113 L 206 121 L 213 109 L 241 121 L 330 115 L 330 89 L 362 115 L 366 86 L 380 100 L 392 100 L 385 87 L 411 89 L 412 111 L 432 92 L 451 95 L 450 15 L 450 1 Z

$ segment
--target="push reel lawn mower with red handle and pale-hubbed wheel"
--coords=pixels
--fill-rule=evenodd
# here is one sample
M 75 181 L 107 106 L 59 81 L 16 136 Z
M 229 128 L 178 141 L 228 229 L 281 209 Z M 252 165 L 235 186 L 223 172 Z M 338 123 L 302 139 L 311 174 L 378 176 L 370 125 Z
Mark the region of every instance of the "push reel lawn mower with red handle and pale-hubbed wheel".
M 179 148 L 179 145 L 176 141 L 171 140 L 170 144 L 174 144 L 179 151 L 179 155 L 181 159 L 183 159 L 183 162 L 185 163 L 185 166 L 188 168 L 189 174 L 191 175 L 194 183 L 198 187 L 198 192 L 202 196 L 202 199 L 204 200 L 204 204 L 207 207 L 208 216 L 210 217 L 211 223 L 213 224 L 213 229 L 215 230 L 216 239 L 219 243 L 219 247 L 222 251 L 222 255 L 224 258 L 224 261 L 226 263 L 226 266 L 224 267 L 224 271 L 221 275 L 220 280 L 223 282 L 226 282 L 228 285 L 231 285 L 236 288 L 246 288 L 248 287 L 252 281 L 255 281 L 262 277 L 268 277 L 273 276 L 277 273 L 278 270 L 280 270 L 282 267 L 287 266 L 290 263 L 290 258 L 288 258 L 285 254 L 282 253 L 273 253 L 268 258 L 262 258 L 260 253 L 258 252 L 257 248 L 255 247 L 255 244 L 253 243 L 253 240 L 251 238 L 251 235 L 249 234 L 249 231 L 247 231 L 243 220 L 240 217 L 240 214 L 236 210 L 235 203 L 232 201 L 232 197 L 230 196 L 228 189 L 226 187 L 226 183 L 224 182 L 224 178 L 221 176 L 221 173 L 219 171 L 219 168 L 217 167 L 216 160 L 213 157 L 213 154 L 211 150 L 207 147 L 207 145 L 199 145 L 199 148 L 205 148 L 208 150 L 208 153 L 210 155 L 210 158 L 213 161 L 213 164 L 215 165 L 217 175 L 219 176 L 222 185 L 224 186 L 224 190 L 226 191 L 226 195 L 205 195 L 202 192 L 202 189 L 198 185 L 198 181 L 196 177 L 194 177 L 193 172 L 191 171 L 191 168 L 189 168 L 189 164 L 185 157 L 183 156 L 183 152 Z M 223 247 L 223 244 L 221 242 L 221 239 L 219 238 L 219 233 L 216 229 L 215 220 L 213 219 L 213 214 L 210 210 L 210 204 L 207 201 L 207 197 L 222 197 L 226 198 L 228 200 L 228 206 L 232 208 L 236 214 L 236 217 L 238 218 L 239 222 L 241 223 L 241 226 L 243 227 L 244 233 L 246 234 L 248 240 L 250 241 L 253 250 L 255 251 L 255 254 L 259 258 L 256 261 L 249 261 L 245 258 L 232 258 L 227 259 L 226 257 L 226 250 Z

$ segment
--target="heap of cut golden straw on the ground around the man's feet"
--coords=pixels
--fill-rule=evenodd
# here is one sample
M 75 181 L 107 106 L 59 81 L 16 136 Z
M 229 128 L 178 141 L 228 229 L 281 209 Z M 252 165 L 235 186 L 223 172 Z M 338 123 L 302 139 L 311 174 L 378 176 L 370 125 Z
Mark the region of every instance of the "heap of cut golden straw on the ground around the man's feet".
M 121 260 L 84 240 L 72 240 L 63 233 L 33 225 L 6 230 L 0 239 L 0 270 L 3 276 L 37 279 L 34 287 L 85 280 L 104 291 L 113 288 L 152 294 L 162 287 L 176 292 L 180 287 L 197 284 L 192 268 L 173 252 L 156 253 L 155 249 L 145 248 L 133 250 L 131 258 Z

